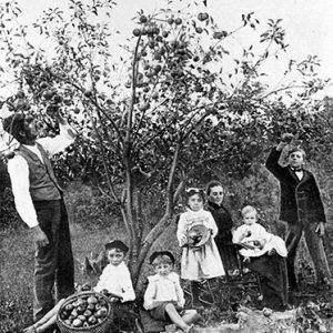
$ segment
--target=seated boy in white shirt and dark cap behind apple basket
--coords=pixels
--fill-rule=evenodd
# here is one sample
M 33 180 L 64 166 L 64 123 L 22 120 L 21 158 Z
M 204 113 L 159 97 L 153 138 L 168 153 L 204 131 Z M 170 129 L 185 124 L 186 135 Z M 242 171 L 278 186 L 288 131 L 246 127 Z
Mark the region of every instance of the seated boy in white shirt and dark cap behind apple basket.
M 130 271 L 123 261 L 129 248 L 123 242 L 115 240 L 105 244 L 105 251 L 109 264 L 104 268 L 94 291 L 109 293 L 113 302 L 119 300 L 124 303 L 135 300 Z M 48 332 L 56 324 L 58 311 L 64 302 L 65 300 L 60 300 L 50 312 L 27 327 L 23 333 Z

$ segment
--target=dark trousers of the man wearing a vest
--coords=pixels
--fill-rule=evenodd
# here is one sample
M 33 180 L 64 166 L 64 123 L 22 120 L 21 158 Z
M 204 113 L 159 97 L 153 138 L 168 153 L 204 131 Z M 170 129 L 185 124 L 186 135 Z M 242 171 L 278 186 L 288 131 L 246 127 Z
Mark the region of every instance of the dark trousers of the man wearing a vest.
M 33 320 L 74 292 L 74 264 L 68 214 L 63 200 L 36 201 L 39 225 L 49 244 L 36 249 Z M 53 297 L 54 295 L 54 297 Z

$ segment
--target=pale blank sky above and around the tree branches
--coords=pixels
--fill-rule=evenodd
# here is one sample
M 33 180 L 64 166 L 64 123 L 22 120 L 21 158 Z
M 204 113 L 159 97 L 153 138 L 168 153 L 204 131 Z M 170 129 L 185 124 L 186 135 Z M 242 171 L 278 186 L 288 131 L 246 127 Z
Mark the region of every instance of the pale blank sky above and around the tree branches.
M 1 2 L 2 0 L 0 0 Z M 23 12 L 26 23 L 33 22 L 49 7 L 63 8 L 65 0 L 17 0 Z M 117 0 L 115 0 L 117 1 Z M 194 1 L 194 0 L 193 0 Z M 3 1 L 2 1 L 3 2 Z M 84 2 L 84 0 L 83 0 Z M 131 36 L 135 26 L 132 18 L 143 9 L 152 12 L 154 9 L 165 7 L 167 0 L 118 0 L 118 6 L 111 16 L 114 30 L 119 30 L 119 42 Z M 184 8 L 184 1 L 174 0 L 175 7 Z M 319 74 L 322 78 L 333 77 L 333 1 L 332 0 L 206 0 L 206 7 L 202 0 L 198 11 L 206 11 L 212 14 L 215 22 L 224 30 L 231 31 L 241 23 L 242 13 L 254 11 L 254 16 L 261 22 L 268 19 L 282 19 L 286 31 L 287 52 L 276 62 L 266 68 L 270 73 L 270 84 L 280 82 L 281 75 L 289 59 L 302 60 L 307 54 L 316 54 L 322 61 Z M 38 40 L 38 37 L 37 37 Z M 44 43 L 46 41 L 40 41 Z M 250 46 L 251 36 L 240 33 L 236 44 Z M 240 48 L 239 48 L 240 49 Z M 1 59 L 0 59 L 1 64 Z M 333 85 L 327 87 L 323 95 L 333 97 Z M 1 91 L 0 91 L 1 97 Z

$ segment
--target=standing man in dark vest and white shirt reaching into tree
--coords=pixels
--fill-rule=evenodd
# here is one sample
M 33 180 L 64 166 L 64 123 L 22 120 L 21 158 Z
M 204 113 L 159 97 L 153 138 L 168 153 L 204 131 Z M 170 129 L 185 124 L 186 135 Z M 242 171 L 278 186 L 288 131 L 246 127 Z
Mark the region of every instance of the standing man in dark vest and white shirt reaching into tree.
M 60 134 L 38 139 L 32 115 L 14 113 L 3 122 L 19 145 L 8 161 L 16 208 L 36 242 L 33 320 L 37 322 L 54 301 L 74 292 L 74 265 L 68 215 L 50 158 L 74 141 L 73 131 L 59 115 Z M 53 290 L 56 299 L 53 300 Z

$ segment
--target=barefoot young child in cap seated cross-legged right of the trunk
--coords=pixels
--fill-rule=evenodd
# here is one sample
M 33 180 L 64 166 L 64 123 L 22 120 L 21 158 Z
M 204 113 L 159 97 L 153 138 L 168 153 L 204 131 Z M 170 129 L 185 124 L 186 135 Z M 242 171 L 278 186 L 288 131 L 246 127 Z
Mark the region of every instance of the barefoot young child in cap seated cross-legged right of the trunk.
M 193 325 L 199 314 L 195 310 L 183 310 L 185 304 L 179 275 L 173 272 L 174 256 L 169 251 L 154 252 L 150 256 L 155 275 L 149 276 L 144 293 L 144 309 L 159 321 L 171 321 L 185 333 L 194 333 Z

